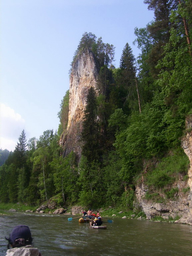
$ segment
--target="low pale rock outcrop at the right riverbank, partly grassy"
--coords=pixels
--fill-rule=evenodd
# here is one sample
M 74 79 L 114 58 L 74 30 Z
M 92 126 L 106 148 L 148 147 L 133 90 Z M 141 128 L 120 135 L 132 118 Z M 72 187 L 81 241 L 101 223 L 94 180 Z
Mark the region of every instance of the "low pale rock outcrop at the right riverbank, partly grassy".
M 186 120 L 186 126 L 191 129 L 192 118 Z M 162 216 L 164 219 L 180 216 L 180 219 L 176 222 L 192 225 L 192 131 L 188 132 L 185 137 L 183 137 L 181 146 L 189 157 L 190 167 L 188 170 L 189 179 L 187 181 L 185 181 L 181 175 L 179 179 L 172 184 L 173 188 L 178 188 L 177 199 L 167 200 L 166 203 L 155 203 L 152 200 L 146 200 L 145 194 L 148 188 L 143 181 L 136 186 L 136 197 L 147 218 L 151 219 L 158 215 Z M 186 190 L 183 189 L 186 189 L 187 193 L 184 193 Z M 164 197 L 163 194 L 159 194 Z

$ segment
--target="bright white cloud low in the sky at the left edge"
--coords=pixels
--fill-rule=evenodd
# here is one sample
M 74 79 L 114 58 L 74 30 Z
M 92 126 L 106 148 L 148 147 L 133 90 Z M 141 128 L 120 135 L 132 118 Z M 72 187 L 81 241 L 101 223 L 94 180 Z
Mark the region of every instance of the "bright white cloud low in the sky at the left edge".
M 14 150 L 19 135 L 25 129 L 25 120 L 14 109 L 0 104 L 0 148 Z

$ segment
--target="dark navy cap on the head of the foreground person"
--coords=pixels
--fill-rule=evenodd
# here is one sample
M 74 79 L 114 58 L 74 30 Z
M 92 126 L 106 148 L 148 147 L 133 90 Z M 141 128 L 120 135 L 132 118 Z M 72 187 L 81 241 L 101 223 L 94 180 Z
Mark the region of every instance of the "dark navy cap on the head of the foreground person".
M 18 225 L 14 227 L 10 235 L 10 242 L 14 243 L 15 239 L 18 238 L 23 238 L 25 241 L 31 239 L 31 231 L 28 226 Z

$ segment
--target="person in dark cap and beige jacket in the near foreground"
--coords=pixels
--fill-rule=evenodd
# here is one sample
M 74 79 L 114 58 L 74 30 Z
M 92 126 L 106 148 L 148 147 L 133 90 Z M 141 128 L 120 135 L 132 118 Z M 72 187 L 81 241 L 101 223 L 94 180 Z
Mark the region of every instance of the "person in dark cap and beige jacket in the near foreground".
M 6 256 L 41 256 L 37 248 L 32 245 L 31 231 L 26 225 L 18 225 L 13 228 L 8 240 Z

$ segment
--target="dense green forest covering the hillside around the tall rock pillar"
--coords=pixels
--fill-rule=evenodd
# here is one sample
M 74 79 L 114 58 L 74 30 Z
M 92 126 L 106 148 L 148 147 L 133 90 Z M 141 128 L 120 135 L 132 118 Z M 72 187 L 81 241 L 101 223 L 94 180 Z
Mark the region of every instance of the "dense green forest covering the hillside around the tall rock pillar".
M 141 180 L 170 198 L 175 191 L 167 185 L 178 175 L 188 179 L 189 160 L 180 145 L 185 120 L 192 114 L 192 2 L 144 2 L 154 11 L 154 20 L 135 28 L 137 59 L 126 43 L 115 67 L 115 46 L 87 32 L 79 42 L 71 65 L 91 50 L 100 92 L 97 96 L 91 87 L 87 94 L 80 161 L 73 151 L 63 157 L 59 146 L 68 123 L 67 91 L 58 132 L 47 130 L 27 142 L 23 130 L 0 167 L 1 202 L 39 205 L 52 198 L 61 206 L 133 210 L 135 185 Z

